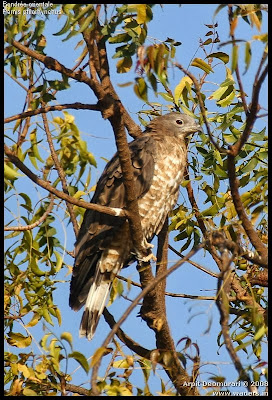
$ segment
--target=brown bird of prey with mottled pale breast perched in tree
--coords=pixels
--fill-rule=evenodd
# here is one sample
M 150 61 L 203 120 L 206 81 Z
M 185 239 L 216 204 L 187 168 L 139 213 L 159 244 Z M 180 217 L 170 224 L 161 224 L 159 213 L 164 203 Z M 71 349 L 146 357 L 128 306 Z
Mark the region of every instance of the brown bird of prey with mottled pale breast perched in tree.
M 149 243 L 158 235 L 178 199 L 187 160 L 187 137 L 201 130 L 186 114 L 172 112 L 154 118 L 143 135 L 129 143 L 143 235 Z M 102 173 L 91 200 L 108 207 L 126 207 L 118 155 Z M 134 253 L 134 254 L 133 254 Z M 75 264 L 69 304 L 85 304 L 80 336 L 93 337 L 115 276 L 135 259 L 129 223 L 95 210 L 86 210 L 75 243 Z

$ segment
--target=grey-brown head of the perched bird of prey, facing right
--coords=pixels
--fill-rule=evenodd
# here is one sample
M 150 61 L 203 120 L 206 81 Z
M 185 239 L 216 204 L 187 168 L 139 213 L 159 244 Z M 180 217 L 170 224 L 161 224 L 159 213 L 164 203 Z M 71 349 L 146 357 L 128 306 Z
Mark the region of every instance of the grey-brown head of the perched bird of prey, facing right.
M 147 132 L 154 132 L 163 136 L 184 137 L 201 131 L 201 126 L 187 114 L 172 112 L 154 118 L 147 126 Z

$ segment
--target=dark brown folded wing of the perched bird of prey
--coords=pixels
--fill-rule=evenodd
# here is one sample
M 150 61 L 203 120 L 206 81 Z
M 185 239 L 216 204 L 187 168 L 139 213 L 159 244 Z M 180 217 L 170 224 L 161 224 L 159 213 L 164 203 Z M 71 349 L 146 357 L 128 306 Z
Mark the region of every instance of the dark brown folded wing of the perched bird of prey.
M 149 189 L 156 159 L 152 136 L 143 135 L 129 144 L 137 198 Z M 109 207 L 124 208 L 125 188 L 118 155 L 111 159 L 101 175 L 91 201 Z M 113 217 L 95 210 L 86 210 L 75 246 L 75 265 L 70 288 L 70 306 L 84 304 L 95 274 L 101 251 L 107 249 L 125 218 Z M 124 238 L 125 240 L 125 238 Z

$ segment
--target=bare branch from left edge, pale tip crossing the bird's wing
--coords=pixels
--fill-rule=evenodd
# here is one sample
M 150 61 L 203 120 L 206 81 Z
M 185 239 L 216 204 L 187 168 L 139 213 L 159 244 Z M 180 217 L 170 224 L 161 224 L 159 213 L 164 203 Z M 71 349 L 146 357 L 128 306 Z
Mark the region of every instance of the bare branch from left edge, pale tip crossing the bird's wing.
M 40 179 L 37 175 L 35 175 L 25 164 L 22 163 L 21 160 L 9 149 L 8 146 L 4 145 L 4 150 L 9 160 L 22 171 L 25 175 L 27 175 L 34 183 L 47 190 L 48 192 L 54 194 L 62 200 L 68 201 L 75 206 L 86 208 L 87 210 L 96 210 L 102 212 L 104 214 L 113 215 L 114 217 L 127 217 L 128 213 L 125 210 L 120 208 L 110 208 L 105 206 L 100 206 L 94 203 L 88 203 L 87 201 L 77 200 L 72 196 L 69 196 L 60 190 L 57 190 L 53 186 L 50 185 L 48 181 L 44 181 Z

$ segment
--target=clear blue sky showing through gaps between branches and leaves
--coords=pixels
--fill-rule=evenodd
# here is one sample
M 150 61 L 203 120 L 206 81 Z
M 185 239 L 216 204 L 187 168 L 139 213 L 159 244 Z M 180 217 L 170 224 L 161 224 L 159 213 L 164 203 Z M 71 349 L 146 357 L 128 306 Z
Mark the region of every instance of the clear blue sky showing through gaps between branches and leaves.
M 175 4 L 167 4 L 163 5 L 162 8 L 159 5 L 156 5 L 153 8 L 153 21 L 149 23 L 148 28 L 148 37 L 150 40 L 150 44 L 154 43 L 154 40 L 157 40 L 159 42 L 160 40 L 165 40 L 167 37 L 182 42 L 182 45 L 177 47 L 176 59 L 184 67 L 187 67 L 192 58 L 203 57 L 203 52 L 201 49 L 199 49 L 199 39 L 201 38 L 205 40 L 205 34 L 208 31 L 208 28 L 204 24 L 212 24 L 214 22 L 218 22 L 217 31 L 219 33 L 219 38 L 221 42 L 229 39 L 229 27 L 226 15 L 227 11 L 226 9 L 223 9 L 219 14 L 216 15 L 215 19 L 213 20 L 212 17 L 215 9 L 215 4 L 184 4 L 181 7 L 178 7 Z M 66 42 L 62 42 L 62 37 L 60 36 L 52 36 L 53 33 L 56 33 L 60 30 L 63 24 L 64 18 L 61 18 L 60 20 L 57 20 L 57 18 L 54 16 L 49 18 L 45 33 L 47 37 L 47 47 L 45 52 L 48 56 L 55 57 L 66 67 L 71 68 L 76 63 L 76 59 L 80 55 L 82 48 L 74 50 L 74 47 L 79 40 L 78 36 Z M 263 32 L 266 31 L 266 24 L 266 15 L 264 13 Z M 237 38 L 245 38 L 249 40 L 253 34 L 258 34 L 258 31 L 256 29 L 252 30 L 245 22 L 240 21 L 236 31 Z M 147 42 L 147 45 L 148 44 L 149 43 Z M 244 51 L 243 49 L 244 47 L 241 44 L 240 51 L 242 52 L 242 54 Z M 261 49 L 262 45 L 260 43 L 253 44 L 252 51 L 257 61 L 259 60 Z M 213 49 L 213 51 L 217 50 L 217 47 Z M 229 50 L 230 45 L 227 45 L 220 49 L 220 51 L 226 51 L 227 53 L 229 52 Z M 109 54 L 113 54 L 114 46 L 109 45 L 108 51 Z M 241 57 L 241 59 L 243 60 L 243 56 Z M 110 62 L 112 82 L 115 85 L 115 88 L 120 95 L 120 98 L 122 99 L 125 107 L 127 107 L 134 120 L 138 122 L 136 113 L 141 109 L 147 109 L 147 106 L 144 105 L 144 103 L 140 99 L 136 98 L 133 92 L 133 86 L 129 86 L 126 88 L 118 87 L 118 84 L 134 81 L 134 78 L 137 76 L 135 74 L 134 67 L 128 74 L 117 74 L 115 69 L 116 60 L 111 60 L 110 58 Z M 244 66 L 242 62 L 241 70 L 243 71 L 243 69 Z M 192 67 L 191 72 L 195 73 L 196 76 L 198 76 L 200 70 Z M 244 79 L 244 88 L 249 96 L 251 95 L 252 82 L 255 72 L 256 65 L 253 60 L 251 67 L 246 75 L 246 79 Z M 215 73 L 209 75 L 207 79 L 211 82 L 210 90 L 216 89 L 215 84 L 220 83 L 223 80 L 224 74 L 224 68 L 221 68 L 219 65 L 215 69 Z M 49 79 L 58 79 L 60 77 L 58 73 L 51 71 L 47 72 L 47 76 Z M 173 70 L 173 72 L 169 73 L 169 77 L 171 85 L 170 88 L 173 91 L 175 86 L 183 77 L 183 74 L 178 70 Z M 75 101 L 89 104 L 96 102 L 94 95 L 88 87 L 85 87 L 85 85 L 71 80 L 69 82 L 71 84 L 71 88 L 67 91 L 62 91 L 58 93 L 57 100 L 59 104 L 73 103 Z M 160 91 L 163 91 L 162 88 Z M 25 101 L 24 96 L 24 91 L 21 90 L 21 88 L 19 88 L 14 81 L 12 81 L 5 75 L 5 116 L 14 115 L 22 111 L 22 107 Z M 16 99 L 16 101 L 14 101 L 14 99 Z M 267 103 L 266 88 L 264 88 L 264 90 L 262 91 L 261 99 L 262 105 L 265 106 Z M 155 96 L 150 96 L 149 100 L 164 103 L 164 100 L 161 97 L 156 98 Z M 209 111 L 213 110 L 209 109 Z M 97 178 L 102 173 L 105 166 L 105 161 L 101 157 L 109 159 L 116 151 L 113 133 L 110 129 L 109 123 L 107 121 L 103 121 L 101 115 L 98 112 L 76 110 L 70 110 L 69 112 L 75 116 L 75 123 L 77 124 L 81 132 L 82 139 L 88 142 L 89 150 L 92 151 L 96 157 L 98 166 L 97 169 L 92 170 L 92 183 L 94 184 Z M 54 116 L 57 115 L 62 114 L 54 113 Z M 53 118 L 49 115 L 48 117 Z M 260 121 L 258 122 L 258 124 L 261 129 L 261 127 L 264 125 L 264 121 Z M 11 126 L 12 124 L 10 124 L 9 128 Z M 193 145 L 191 146 L 190 150 L 192 152 L 195 152 L 195 148 Z M 40 188 L 35 188 L 34 184 L 28 181 L 28 178 L 23 178 L 18 181 L 18 191 L 26 190 L 26 187 L 27 192 L 29 195 L 31 195 L 33 201 L 35 198 L 38 201 L 39 196 L 45 196 L 45 192 Z M 194 188 L 197 201 L 201 206 L 204 198 L 201 198 L 201 195 L 197 191 L 196 185 L 194 186 Z M 181 193 L 179 201 L 183 201 L 182 199 L 186 201 L 185 197 L 186 193 Z M 56 218 L 59 218 L 59 215 L 55 216 Z M 7 220 L 9 218 L 10 216 L 7 215 Z M 67 228 L 66 225 L 67 222 L 65 221 L 65 229 Z M 175 233 L 172 232 L 170 234 L 171 244 L 178 249 L 181 244 L 177 244 L 173 241 L 174 236 Z M 59 240 L 66 240 L 67 249 L 69 251 L 73 250 L 74 236 L 70 225 L 67 228 L 66 235 L 60 233 Z M 68 255 L 65 256 L 65 260 L 67 263 L 72 264 L 72 259 Z M 206 266 L 207 268 L 213 269 L 216 272 L 215 265 L 211 262 L 209 257 L 200 258 L 200 255 L 198 254 L 196 257 L 194 257 L 194 260 L 201 263 L 203 266 Z M 170 265 L 172 265 L 175 261 L 177 261 L 177 257 L 170 252 Z M 85 339 L 79 339 L 78 328 L 82 312 L 80 311 L 78 313 L 75 313 L 70 310 L 68 306 L 70 276 L 67 276 L 66 272 L 67 271 L 62 271 L 59 274 L 58 279 L 65 279 L 66 283 L 59 285 L 58 289 L 55 291 L 54 298 L 55 303 L 58 305 L 62 312 L 63 324 L 60 328 L 54 326 L 49 327 L 49 329 L 52 329 L 52 331 L 56 335 L 60 335 L 60 333 L 63 331 L 71 332 L 74 337 L 74 349 L 81 351 L 83 354 L 85 354 L 86 357 L 89 357 L 93 354 L 94 350 L 102 344 L 103 339 L 108 334 L 109 328 L 108 325 L 104 322 L 103 317 L 101 317 L 94 339 L 91 342 L 88 342 Z M 124 275 L 130 277 L 135 281 L 138 281 L 137 271 L 134 266 L 126 269 L 126 271 L 124 271 Z M 216 292 L 216 280 L 215 278 L 212 278 L 207 274 L 200 272 L 189 264 L 186 264 L 183 265 L 172 276 L 169 276 L 167 280 L 167 290 L 175 293 L 212 296 Z M 132 289 L 129 292 L 128 296 L 130 298 L 134 298 L 137 293 L 137 290 Z M 114 304 L 109 308 L 109 311 L 115 316 L 115 319 L 117 320 L 123 314 L 128 305 L 129 303 L 127 301 L 123 299 L 117 299 Z M 134 340 L 139 341 L 139 343 L 142 343 L 148 348 L 155 348 L 154 335 L 146 327 L 145 322 L 141 321 L 141 319 L 137 317 L 138 312 L 139 308 L 135 309 L 131 317 L 127 321 L 125 321 L 122 328 L 128 335 L 131 335 Z M 167 299 L 167 314 L 175 341 L 178 341 L 181 337 L 188 335 L 192 339 L 192 341 L 196 342 L 200 347 L 201 362 L 210 363 L 208 365 L 203 365 L 203 367 L 201 368 L 200 379 L 207 380 L 207 378 L 211 374 L 224 375 L 226 376 L 228 381 L 235 381 L 237 379 L 236 371 L 234 370 L 234 367 L 231 364 L 230 358 L 225 349 L 221 348 L 220 350 L 218 350 L 217 335 L 220 330 L 218 325 L 219 315 L 214 302 L 186 299 Z M 210 323 L 210 329 L 208 330 L 208 332 L 206 332 Z M 40 328 L 34 327 L 31 332 L 39 340 L 39 338 L 41 337 Z M 178 349 L 181 349 L 181 346 L 178 347 Z M 124 352 L 127 355 L 130 354 L 130 351 L 127 349 L 124 350 Z M 247 364 L 248 361 L 246 360 L 246 355 L 243 352 L 239 352 L 239 356 Z M 73 362 L 72 360 L 71 362 L 69 361 L 69 373 L 71 373 L 76 367 L 77 364 L 75 362 Z M 101 371 L 103 371 L 103 368 Z M 120 373 L 122 373 L 121 370 Z M 139 386 L 141 386 L 140 375 L 140 371 L 135 373 L 135 385 L 139 384 Z M 163 377 L 164 380 L 167 381 L 166 375 L 163 372 L 161 372 L 160 375 Z M 82 369 L 79 369 L 77 372 L 75 372 L 73 376 L 75 377 L 72 382 L 74 384 L 81 384 L 83 382 L 88 382 L 89 380 L 89 377 L 86 376 L 85 372 L 82 371 Z M 159 380 L 153 376 L 150 379 L 153 382 L 150 387 L 153 390 L 160 390 Z

